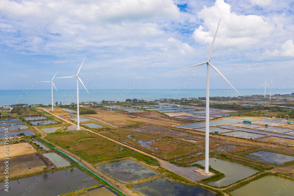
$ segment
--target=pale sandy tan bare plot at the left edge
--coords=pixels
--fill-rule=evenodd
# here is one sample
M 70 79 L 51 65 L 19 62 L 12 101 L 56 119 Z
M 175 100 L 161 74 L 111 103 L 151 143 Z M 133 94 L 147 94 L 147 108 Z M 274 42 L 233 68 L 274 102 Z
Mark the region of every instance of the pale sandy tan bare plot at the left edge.
M 4 155 L 4 146 L 0 146 L 0 152 L 0 159 L 7 157 Z M 26 155 L 34 152 L 36 152 L 36 150 L 33 147 L 31 147 L 31 145 L 27 142 L 9 145 L 9 157 Z

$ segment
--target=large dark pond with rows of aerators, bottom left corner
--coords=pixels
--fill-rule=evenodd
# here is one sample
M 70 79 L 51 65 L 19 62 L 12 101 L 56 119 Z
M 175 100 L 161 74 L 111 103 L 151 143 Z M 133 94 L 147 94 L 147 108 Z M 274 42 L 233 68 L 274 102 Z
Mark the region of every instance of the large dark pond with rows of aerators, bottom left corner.
M 0 189 L 5 182 L 0 183 Z M 45 173 L 36 176 L 9 180 L 9 192 L 1 195 L 47 195 L 56 196 L 86 187 L 97 185 L 98 182 L 78 168 Z

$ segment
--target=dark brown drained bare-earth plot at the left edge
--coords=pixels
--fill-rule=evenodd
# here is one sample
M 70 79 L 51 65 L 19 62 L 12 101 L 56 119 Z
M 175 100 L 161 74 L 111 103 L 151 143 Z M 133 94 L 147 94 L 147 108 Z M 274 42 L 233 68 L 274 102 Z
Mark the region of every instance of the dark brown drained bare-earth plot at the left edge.
M 4 161 L 0 160 L 0 170 L 4 171 Z M 48 167 L 50 161 L 41 153 L 33 155 L 24 155 L 9 159 L 9 177 L 31 174 L 43 171 L 44 167 Z M 31 167 L 31 169 L 29 169 Z M 0 179 L 5 177 L 4 172 L 0 173 Z

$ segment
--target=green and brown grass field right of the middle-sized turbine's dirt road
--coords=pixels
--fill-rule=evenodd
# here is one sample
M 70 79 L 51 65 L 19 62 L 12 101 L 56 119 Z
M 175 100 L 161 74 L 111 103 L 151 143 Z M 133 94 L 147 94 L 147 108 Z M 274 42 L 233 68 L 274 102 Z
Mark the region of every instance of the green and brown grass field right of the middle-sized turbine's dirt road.
M 116 162 L 116 159 L 119 158 L 133 157 L 148 165 L 159 165 L 157 160 L 147 155 L 130 150 L 87 131 L 54 132 L 47 134 L 44 138 L 90 164 L 97 164 L 102 161 Z

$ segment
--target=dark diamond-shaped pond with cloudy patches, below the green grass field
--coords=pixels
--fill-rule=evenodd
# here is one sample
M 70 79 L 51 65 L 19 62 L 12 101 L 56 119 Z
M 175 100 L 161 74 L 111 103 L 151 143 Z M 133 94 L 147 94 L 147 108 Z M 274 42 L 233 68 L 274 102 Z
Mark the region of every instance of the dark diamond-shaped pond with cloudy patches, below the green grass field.
M 123 183 L 158 175 L 157 172 L 130 160 L 98 166 L 97 169 Z

